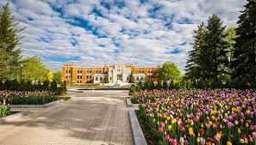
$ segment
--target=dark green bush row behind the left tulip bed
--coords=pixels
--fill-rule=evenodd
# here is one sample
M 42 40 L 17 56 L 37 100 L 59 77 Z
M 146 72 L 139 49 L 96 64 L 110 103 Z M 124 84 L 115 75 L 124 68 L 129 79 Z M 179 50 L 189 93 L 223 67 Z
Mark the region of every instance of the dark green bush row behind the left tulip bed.
M 16 80 L 0 81 L 0 90 L 10 91 L 51 91 L 56 95 L 66 94 L 66 82 L 61 82 L 57 86 L 57 82 L 37 82 L 32 84 L 30 81 L 17 82 Z

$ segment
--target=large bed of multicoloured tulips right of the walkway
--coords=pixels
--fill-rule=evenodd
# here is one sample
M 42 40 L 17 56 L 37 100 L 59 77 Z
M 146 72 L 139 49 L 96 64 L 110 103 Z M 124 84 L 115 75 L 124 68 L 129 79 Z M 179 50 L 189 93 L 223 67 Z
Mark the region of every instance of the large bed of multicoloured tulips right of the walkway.
M 135 97 L 160 144 L 256 143 L 256 90 L 154 90 Z

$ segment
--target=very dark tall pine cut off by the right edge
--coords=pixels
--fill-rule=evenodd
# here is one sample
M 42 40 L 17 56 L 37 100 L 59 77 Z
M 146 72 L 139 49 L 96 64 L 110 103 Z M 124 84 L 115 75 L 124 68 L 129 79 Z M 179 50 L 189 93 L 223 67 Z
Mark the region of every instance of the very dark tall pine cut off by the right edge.
M 234 78 L 245 85 L 256 85 L 256 1 L 247 0 L 241 11 L 234 45 Z

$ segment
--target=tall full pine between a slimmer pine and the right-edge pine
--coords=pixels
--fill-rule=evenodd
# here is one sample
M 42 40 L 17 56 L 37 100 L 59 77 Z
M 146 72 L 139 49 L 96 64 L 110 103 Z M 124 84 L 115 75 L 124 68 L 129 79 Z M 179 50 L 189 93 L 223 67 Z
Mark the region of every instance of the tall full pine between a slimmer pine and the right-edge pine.
M 204 58 L 203 73 L 209 82 L 214 82 L 215 88 L 219 87 L 222 77 L 227 75 L 228 63 L 228 42 L 227 35 L 224 34 L 225 26 L 222 26 L 222 20 L 217 15 L 209 16 L 208 25 L 204 37 L 202 52 L 199 57 Z

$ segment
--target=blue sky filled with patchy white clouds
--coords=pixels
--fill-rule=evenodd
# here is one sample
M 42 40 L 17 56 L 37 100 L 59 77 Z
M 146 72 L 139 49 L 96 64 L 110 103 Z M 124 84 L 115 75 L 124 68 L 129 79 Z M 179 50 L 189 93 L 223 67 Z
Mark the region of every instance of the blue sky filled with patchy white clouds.
M 23 57 L 40 56 L 47 67 L 64 62 L 158 65 L 183 70 L 193 30 L 211 14 L 235 27 L 246 0 L 1 0 L 20 27 Z

